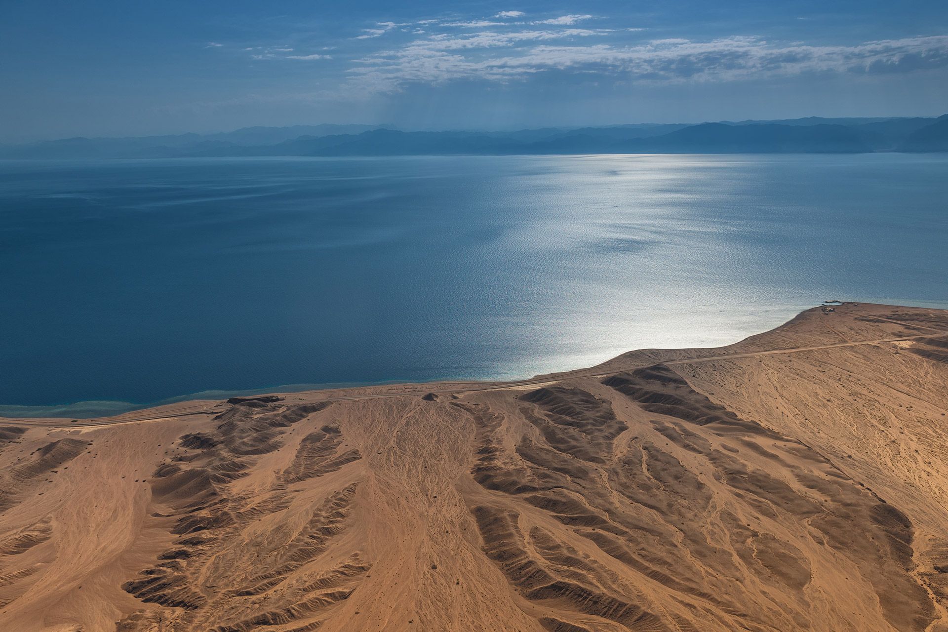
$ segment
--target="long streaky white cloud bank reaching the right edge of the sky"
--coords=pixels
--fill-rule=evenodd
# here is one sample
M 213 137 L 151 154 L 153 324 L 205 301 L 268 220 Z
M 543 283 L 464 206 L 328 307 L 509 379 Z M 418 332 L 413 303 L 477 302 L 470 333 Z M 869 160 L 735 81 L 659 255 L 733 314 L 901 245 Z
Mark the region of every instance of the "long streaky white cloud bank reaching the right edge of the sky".
M 544 72 L 586 73 L 596 81 L 674 83 L 948 67 L 948 35 L 835 46 L 779 45 L 747 36 L 639 45 L 586 42 L 608 34 L 579 28 L 442 33 L 358 60 L 349 73 L 363 89 L 392 92 L 416 82 L 523 81 Z

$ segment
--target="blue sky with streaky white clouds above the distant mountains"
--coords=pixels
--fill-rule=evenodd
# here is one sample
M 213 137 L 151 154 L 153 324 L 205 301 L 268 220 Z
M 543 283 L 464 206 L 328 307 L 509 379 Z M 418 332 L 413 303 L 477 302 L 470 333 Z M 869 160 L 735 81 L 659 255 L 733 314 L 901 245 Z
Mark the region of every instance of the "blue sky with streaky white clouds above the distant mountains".
M 0 5 L 0 142 L 948 112 L 944 0 Z

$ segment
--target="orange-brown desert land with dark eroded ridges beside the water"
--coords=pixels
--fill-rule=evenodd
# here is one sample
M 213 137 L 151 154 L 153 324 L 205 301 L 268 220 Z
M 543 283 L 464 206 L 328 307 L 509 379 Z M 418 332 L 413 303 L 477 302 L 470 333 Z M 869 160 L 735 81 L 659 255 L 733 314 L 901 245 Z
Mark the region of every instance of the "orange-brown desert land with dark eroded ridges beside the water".
M 0 629 L 948 630 L 945 334 L 6 420 Z

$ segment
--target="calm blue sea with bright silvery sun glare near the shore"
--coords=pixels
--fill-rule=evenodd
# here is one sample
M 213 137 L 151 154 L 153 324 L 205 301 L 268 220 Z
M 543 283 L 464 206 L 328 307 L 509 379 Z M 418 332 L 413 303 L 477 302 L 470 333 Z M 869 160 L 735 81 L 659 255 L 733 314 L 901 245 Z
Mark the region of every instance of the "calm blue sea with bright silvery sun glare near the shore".
M 0 414 L 516 378 L 828 298 L 948 306 L 946 244 L 944 154 L 0 162 Z

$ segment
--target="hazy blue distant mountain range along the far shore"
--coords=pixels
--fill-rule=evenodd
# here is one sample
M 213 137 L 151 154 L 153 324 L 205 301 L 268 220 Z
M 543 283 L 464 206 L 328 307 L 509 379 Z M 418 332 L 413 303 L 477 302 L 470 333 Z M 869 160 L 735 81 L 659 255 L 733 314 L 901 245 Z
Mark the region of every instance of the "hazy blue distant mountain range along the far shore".
M 0 147 L 0 158 L 170 158 L 557 153 L 948 152 L 948 115 L 403 132 L 371 125 L 247 127 L 221 134 L 64 138 Z

